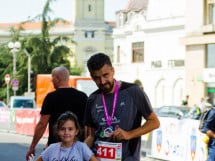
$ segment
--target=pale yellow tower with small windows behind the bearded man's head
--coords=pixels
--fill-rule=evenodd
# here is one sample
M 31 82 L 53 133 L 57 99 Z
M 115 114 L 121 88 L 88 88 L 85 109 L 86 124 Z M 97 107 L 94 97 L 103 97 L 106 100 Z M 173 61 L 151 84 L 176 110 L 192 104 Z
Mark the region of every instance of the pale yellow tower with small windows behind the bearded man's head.
M 104 20 L 104 0 L 75 0 L 73 9 L 77 64 L 86 68 L 86 61 L 95 52 L 105 52 L 112 57 L 112 28 L 115 23 Z

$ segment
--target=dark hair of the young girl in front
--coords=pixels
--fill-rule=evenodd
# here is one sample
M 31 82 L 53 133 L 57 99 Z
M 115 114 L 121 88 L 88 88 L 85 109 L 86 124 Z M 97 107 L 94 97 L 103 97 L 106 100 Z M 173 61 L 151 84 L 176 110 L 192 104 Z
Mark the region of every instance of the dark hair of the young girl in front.
M 76 129 L 78 129 L 79 133 L 78 135 L 80 136 L 81 134 L 81 126 L 80 124 L 78 123 L 78 118 L 77 116 L 71 112 L 71 111 L 66 111 L 64 112 L 63 114 L 61 114 L 59 117 L 58 117 L 58 120 L 57 120 L 57 124 L 56 124 L 56 129 L 57 131 L 63 126 L 63 124 L 68 121 L 68 120 L 71 120 L 71 121 L 74 121 L 75 123 L 75 127 Z

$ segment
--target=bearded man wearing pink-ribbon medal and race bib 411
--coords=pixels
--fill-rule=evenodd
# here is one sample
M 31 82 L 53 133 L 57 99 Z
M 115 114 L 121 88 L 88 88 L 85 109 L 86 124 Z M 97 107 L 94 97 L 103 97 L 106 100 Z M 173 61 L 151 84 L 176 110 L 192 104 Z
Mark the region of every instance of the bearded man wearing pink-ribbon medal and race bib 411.
M 100 161 L 139 161 L 141 136 L 160 126 L 146 93 L 134 83 L 116 80 L 104 53 L 91 56 L 87 67 L 98 90 L 87 101 L 85 142 Z

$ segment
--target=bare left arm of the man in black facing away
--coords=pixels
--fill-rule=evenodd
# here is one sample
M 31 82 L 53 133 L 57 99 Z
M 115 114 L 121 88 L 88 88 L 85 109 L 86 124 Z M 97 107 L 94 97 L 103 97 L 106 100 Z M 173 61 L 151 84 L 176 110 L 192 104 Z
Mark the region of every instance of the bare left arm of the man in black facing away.
M 31 142 L 29 150 L 26 154 L 26 160 L 27 161 L 29 160 L 29 156 L 31 154 L 35 155 L 35 147 L 46 130 L 46 127 L 47 127 L 48 122 L 49 122 L 49 118 L 50 118 L 50 115 L 41 115 L 40 120 L 37 123 L 35 131 L 34 131 L 33 140 Z

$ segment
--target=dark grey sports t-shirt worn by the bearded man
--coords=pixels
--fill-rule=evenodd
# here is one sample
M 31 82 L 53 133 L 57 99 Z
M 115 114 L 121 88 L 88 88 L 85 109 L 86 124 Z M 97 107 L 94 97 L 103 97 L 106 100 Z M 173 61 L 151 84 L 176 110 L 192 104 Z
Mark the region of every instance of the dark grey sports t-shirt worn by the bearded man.
M 113 99 L 113 93 L 105 95 L 109 115 L 112 113 Z M 111 128 L 114 130 L 118 126 L 126 131 L 136 129 L 141 126 L 142 117 L 148 118 L 152 111 L 151 103 L 144 91 L 135 84 L 121 82 Z M 88 99 L 84 124 L 96 130 L 96 138 L 92 148 L 94 152 L 96 152 L 98 141 L 115 142 L 104 135 L 108 125 L 106 124 L 102 96 L 99 90 L 92 93 Z M 140 137 L 122 142 L 123 161 L 140 160 L 140 142 Z

